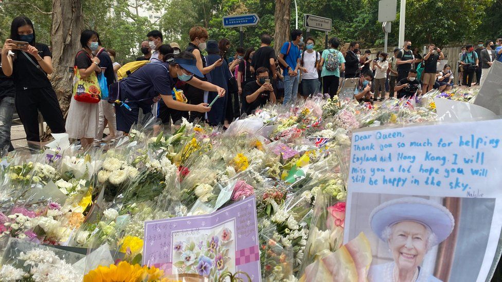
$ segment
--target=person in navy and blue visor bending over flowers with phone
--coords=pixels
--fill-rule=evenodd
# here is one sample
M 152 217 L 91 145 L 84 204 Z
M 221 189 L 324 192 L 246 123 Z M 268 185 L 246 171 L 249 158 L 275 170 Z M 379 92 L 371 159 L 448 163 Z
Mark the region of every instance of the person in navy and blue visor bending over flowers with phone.
M 166 46 L 169 45 L 166 44 Z M 220 97 L 225 96 L 225 89 L 196 78 L 202 78 L 203 74 L 197 67 L 197 61 L 192 53 L 187 51 L 177 55 L 169 53 L 162 55 L 160 59 L 162 61 L 146 64 L 133 72 L 131 76 L 110 87 L 113 95 L 119 91 L 121 100 L 128 100 L 126 103 L 128 107 L 115 104 L 118 130 L 129 133 L 131 126 L 138 121 L 140 110 L 150 112 L 151 106 L 161 100 L 161 103 L 164 102 L 170 109 L 202 113 L 211 109 L 207 103 L 203 102 L 191 105 L 176 101 L 173 98 L 172 89 L 177 81 L 184 81 L 206 91 L 217 92 Z

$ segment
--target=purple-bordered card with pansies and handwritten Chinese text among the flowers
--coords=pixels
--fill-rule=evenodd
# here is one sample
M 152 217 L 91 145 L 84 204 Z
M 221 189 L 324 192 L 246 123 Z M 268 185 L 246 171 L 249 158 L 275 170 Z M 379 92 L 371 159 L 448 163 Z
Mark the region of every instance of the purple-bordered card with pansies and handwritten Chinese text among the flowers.
M 254 197 L 208 215 L 145 222 L 143 264 L 168 274 L 195 273 L 217 280 L 243 271 L 260 281 Z

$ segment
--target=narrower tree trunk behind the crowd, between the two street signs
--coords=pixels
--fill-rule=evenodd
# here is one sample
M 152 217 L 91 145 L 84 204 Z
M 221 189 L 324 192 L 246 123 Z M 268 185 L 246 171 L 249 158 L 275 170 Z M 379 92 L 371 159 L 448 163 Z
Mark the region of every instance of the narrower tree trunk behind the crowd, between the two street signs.
M 275 1 L 274 49 L 279 54 L 282 44 L 290 37 L 291 0 Z

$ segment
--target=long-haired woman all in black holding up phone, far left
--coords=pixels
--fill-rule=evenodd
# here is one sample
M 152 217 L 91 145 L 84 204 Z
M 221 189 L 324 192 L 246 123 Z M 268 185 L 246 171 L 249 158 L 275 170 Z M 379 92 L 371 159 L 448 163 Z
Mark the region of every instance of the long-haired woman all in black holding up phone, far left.
M 12 41 L 24 41 L 29 45 L 23 51 L 16 49 Z M 49 47 L 36 42 L 33 24 L 25 16 L 12 21 L 10 39 L 2 49 L 2 70 L 5 76 L 13 77 L 15 106 L 28 143 L 40 142 L 39 111 L 52 133 L 64 133 L 63 114 L 47 78 L 47 74 L 53 72 Z

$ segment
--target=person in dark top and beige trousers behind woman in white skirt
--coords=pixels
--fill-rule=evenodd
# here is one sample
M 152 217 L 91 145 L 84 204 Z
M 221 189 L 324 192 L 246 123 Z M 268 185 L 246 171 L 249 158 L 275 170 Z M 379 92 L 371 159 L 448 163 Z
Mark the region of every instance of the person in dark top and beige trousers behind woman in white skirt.
M 111 84 L 116 82 L 114 65 L 110 53 L 105 50 L 101 45 L 101 40 L 99 39 L 99 34 L 96 33 L 98 37 L 98 49 L 95 51 L 96 57 L 99 59 L 99 67 L 104 71 L 104 77 L 106 78 L 106 84 L 110 87 Z M 110 135 L 103 138 L 104 127 L 108 124 L 110 129 Z M 98 123 L 98 134 L 95 138 L 95 145 L 100 144 L 100 141 L 111 141 L 117 137 L 116 135 L 117 123 L 115 121 L 115 110 L 113 104 L 108 103 L 106 100 L 101 100 L 99 102 L 99 123 Z

